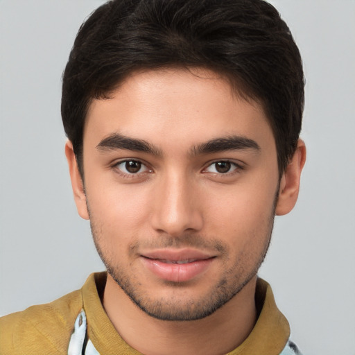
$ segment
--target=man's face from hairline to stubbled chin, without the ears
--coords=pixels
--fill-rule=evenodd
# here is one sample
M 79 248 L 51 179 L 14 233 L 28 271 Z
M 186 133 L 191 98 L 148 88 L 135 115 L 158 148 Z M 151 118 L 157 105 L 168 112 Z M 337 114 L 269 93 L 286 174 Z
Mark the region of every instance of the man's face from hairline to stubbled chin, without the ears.
M 279 191 L 275 140 L 262 107 L 216 73 L 130 76 L 90 105 L 83 157 L 80 214 L 146 313 L 203 318 L 256 275 Z

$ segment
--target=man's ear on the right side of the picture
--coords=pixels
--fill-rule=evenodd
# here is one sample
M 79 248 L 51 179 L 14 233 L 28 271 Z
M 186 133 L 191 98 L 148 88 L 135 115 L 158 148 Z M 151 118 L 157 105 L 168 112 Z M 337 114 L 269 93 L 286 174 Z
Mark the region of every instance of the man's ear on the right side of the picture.
M 276 205 L 277 216 L 288 214 L 295 207 L 300 190 L 301 172 L 305 162 L 306 146 L 302 139 L 298 139 L 295 154 L 280 180 L 279 198 Z

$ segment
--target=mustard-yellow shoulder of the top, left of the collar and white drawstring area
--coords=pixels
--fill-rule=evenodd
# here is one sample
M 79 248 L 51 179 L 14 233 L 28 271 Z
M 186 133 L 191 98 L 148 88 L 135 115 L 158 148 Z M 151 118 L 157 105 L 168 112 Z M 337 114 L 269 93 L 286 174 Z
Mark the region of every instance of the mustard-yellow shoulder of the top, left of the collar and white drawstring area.
M 67 354 L 81 291 L 0 318 L 0 354 Z

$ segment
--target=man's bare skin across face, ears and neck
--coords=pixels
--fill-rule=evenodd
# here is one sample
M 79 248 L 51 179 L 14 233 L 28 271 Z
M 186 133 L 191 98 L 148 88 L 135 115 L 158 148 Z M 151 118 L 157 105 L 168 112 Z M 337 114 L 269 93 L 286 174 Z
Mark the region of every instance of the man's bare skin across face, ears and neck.
M 231 137 L 231 149 L 205 148 Z M 295 205 L 305 152 L 300 140 L 279 180 L 261 105 L 203 69 L 137 72 L 110 99 L 92 101 L 85 192 L 70 141 L 66 155 L 78 213 L 109 270 L 103 306 L 128 344 L 152 355 L 225 354 L 245 340 L 273 217 Z M 174 266 L 167 280 L 147 266 L 157 252 L 209 261 L 187 280 Z

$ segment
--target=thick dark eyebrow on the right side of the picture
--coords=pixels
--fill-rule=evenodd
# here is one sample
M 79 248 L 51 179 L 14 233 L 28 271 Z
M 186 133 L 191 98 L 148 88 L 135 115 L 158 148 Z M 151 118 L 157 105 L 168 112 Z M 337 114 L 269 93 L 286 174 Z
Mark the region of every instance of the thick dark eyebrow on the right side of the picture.
M 249 139 L 243 136 L 227 136 L 216 139 L 211 139 L 205 143 L 199 144 L 191 148 L 192 155 L 219 153 L 227 150 L 255 150 L 259 152 L 261 150 L 259 144 L 253 139 Z

